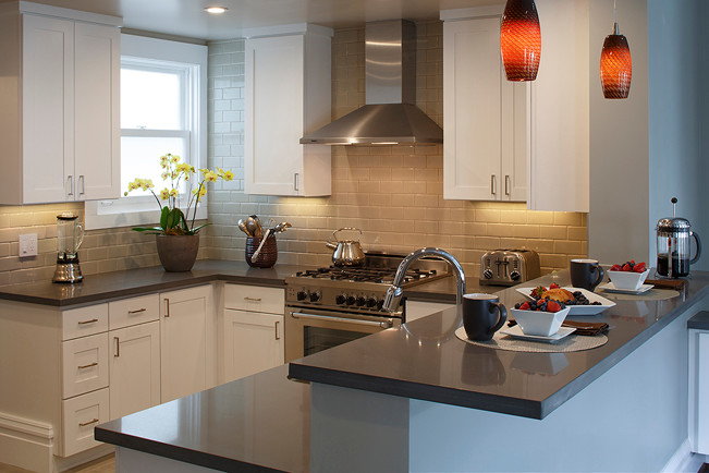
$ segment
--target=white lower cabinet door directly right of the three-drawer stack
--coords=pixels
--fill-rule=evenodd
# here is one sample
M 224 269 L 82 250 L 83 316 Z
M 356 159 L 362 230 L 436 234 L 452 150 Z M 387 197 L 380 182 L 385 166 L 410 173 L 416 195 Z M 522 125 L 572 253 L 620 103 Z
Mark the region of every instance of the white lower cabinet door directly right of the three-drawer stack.
M 160 324 L 109 332 L 111 419 L 160 403 Z

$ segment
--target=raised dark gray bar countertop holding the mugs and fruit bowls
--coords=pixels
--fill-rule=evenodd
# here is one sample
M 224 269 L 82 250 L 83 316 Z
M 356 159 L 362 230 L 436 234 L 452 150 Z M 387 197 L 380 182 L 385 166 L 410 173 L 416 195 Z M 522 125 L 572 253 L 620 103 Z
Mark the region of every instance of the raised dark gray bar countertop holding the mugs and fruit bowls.
M 569 271 L 529 283 L 566 284 Z M 602 347 L 573 353 L 523 353 L 480 348 L 454 335 L 455 311 L 425 317 L 407 328 L 296 360 L 290 376 L 375 392 L 543 419 L 709 294 L 709 272 L 693 271 L 680 296 L 663 301 L 619 300 L 600 315 L 571 319 L 607 322 Z M 524 296 L 500 292 L 511 307 Z M 386 362 L 383 362 L 386 361 Z

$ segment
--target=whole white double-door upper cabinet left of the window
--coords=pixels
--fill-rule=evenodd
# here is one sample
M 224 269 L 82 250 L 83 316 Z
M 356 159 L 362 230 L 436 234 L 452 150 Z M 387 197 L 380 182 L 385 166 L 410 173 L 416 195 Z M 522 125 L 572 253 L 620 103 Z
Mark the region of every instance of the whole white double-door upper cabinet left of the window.
M 120 24 L 27 2 L 0 7 L 0 204 L 119 196 Z

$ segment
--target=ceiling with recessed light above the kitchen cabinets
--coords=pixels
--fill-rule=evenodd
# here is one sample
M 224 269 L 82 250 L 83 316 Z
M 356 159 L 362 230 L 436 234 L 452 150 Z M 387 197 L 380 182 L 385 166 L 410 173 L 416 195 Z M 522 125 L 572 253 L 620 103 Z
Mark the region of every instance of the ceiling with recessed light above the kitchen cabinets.
M 2 2 L 10 0 L 0 0 Z M 333 28 L 377 20 L 438 19 L 440 10 L 504 3 L 504 0 L 34 0 L 36 3 L 123 17 L 123 25 L 197 39 L 232 39 L 242 29 L 290 23 Z M 210 15 L 205 7 L 227 7 Z

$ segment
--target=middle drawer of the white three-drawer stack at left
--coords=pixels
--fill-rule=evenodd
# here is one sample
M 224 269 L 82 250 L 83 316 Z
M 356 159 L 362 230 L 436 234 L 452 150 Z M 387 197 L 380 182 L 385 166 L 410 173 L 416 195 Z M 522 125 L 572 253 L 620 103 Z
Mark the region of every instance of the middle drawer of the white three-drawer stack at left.
M 62 398 L 108 386 L 108 333 L 62 342 Z

